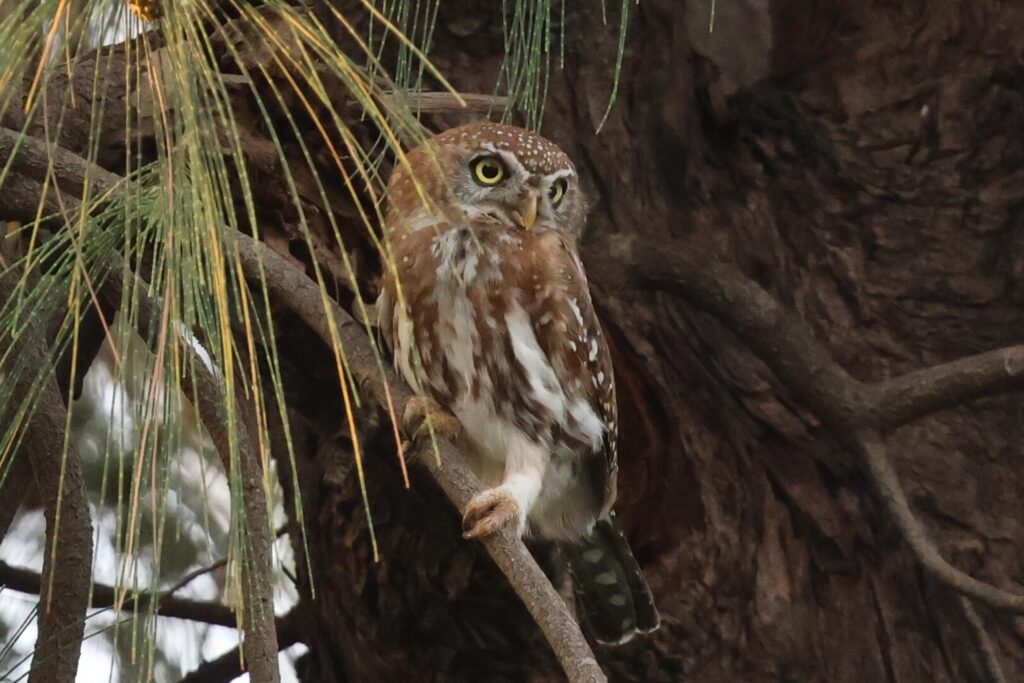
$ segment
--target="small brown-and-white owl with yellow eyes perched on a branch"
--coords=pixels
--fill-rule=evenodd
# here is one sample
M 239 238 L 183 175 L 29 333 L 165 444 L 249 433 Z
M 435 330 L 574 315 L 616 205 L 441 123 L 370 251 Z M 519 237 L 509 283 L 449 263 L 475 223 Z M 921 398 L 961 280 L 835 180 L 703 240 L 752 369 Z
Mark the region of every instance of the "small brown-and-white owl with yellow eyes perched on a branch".
M 601 642 L 655 629 L 611 509 L 614 376 L 577 254 L 572 162 L 527 130 L 470 124 L 396 165 L 387 201 L 380 330 L 426 422 L 486 486 L 464 536 L 511 526 L 554 544 Z

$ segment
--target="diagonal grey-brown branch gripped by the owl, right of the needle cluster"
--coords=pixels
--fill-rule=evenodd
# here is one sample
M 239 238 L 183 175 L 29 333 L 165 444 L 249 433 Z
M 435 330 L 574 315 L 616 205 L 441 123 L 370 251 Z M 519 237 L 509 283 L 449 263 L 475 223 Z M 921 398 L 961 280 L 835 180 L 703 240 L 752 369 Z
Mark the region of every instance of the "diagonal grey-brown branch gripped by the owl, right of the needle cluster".
M 271 295 L 286 303 L 329 345 L 333 336 L 325 302 L 330 306 L 338 338 L 345 347 L 348 371 L 379 404 L 393 404 L 401 414 L 413 394 L 392 371 L 385 369 L 381 373 L 364 327 L 334 300 L 325 299 L 305 272 L 262 243 L 240 233 L 238 246 L 246 274 L 264 279 Z M 455 446 L 437 439 L 437 447 L 440 466 L 430 444 L 418 447 L 419 461 L 459 510 L 465 510 L 466 504 L 480 490 L 480 482 Z M 569 680 L 604 681 L 579 624 L 522 541 L 514 533 L 502 532 L 484 538 L 482 543 L 541 628 Z

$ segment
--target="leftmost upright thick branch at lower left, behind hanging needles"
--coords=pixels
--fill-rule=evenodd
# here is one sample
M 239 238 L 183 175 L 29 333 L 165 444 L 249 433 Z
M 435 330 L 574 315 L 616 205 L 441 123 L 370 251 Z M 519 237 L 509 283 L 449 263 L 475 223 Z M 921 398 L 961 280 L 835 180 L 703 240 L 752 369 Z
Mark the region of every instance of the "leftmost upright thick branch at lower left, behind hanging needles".
M 14 274 L 0 274 L 0 295 L 11 296 Z M 85 612 L 92 579 L 92 519 L 78 453 L 65 444 L 67 411 L 48 358 L 45 336 L 30 325 L 15 341 L 12 357 L 22 364 L 14 374 L 11 404 L 33 396 L 37 372 L 45 375 L 33 399 L 23 450 L 28 458 L 46 518 L 46 544 L 39 595 L 39 627 L 32 681 L 72 683 L 78 672 Z

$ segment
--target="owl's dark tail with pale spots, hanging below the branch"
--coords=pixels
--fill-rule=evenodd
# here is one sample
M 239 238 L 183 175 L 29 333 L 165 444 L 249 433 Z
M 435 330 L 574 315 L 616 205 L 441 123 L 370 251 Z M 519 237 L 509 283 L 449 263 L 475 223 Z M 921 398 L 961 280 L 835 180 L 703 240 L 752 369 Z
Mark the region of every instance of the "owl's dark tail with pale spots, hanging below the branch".
M 598 642 L 621 645 L 657 629 L 662 617 L 614 517 L 598 520 L 590 536 L 561 550 L 581 620 Z

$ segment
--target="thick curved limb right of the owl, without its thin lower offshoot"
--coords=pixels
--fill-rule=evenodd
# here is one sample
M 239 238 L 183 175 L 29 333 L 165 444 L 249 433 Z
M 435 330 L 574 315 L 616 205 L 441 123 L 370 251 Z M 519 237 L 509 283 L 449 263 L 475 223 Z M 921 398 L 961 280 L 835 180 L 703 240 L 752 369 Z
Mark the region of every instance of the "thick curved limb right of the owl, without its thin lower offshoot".
M 675 294 L 719 318 L 808 408 L 831 424 L 889 430 L 975 398 L 1024 389 L 1024 345 L 980 353 L 880 384 L 859 382 L 808 326 L 735 268 L 672 245 L 617 237 L 586 250 L 602 284 Z

